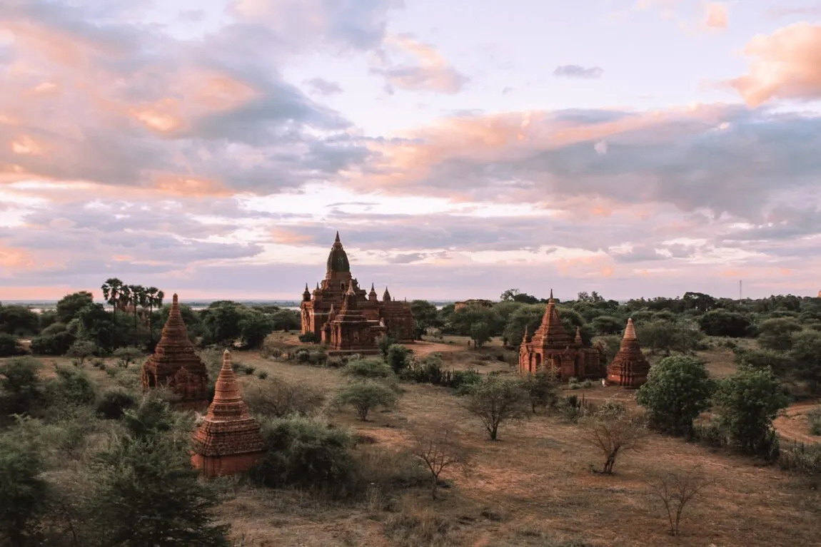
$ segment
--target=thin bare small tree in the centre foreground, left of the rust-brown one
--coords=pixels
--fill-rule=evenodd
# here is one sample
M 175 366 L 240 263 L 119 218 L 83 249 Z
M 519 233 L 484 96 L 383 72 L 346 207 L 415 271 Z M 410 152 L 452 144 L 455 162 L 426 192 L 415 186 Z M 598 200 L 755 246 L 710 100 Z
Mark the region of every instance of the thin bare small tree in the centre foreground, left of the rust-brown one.
M 470 464 L 470 450 L 461 443 L 452 424 L 417 426 L 410 430 L 410 454 L 419 458 L 430 472 L 430 495 L 436 499 L 439 475 L 447 468 L 461 468 L 466 472 Z

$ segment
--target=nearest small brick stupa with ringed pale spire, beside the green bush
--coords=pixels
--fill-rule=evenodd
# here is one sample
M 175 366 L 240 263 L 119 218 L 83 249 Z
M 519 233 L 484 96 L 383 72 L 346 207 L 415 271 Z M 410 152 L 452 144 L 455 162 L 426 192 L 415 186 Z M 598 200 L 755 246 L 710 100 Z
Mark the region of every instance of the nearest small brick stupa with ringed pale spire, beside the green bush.
M 265 443 L 259 423 L 251 417 L 231 367 L 231 353 L 222 354 L 213 401 L 194 434 L 191 465 L 205 476 L 248 471 L 262 458 Z

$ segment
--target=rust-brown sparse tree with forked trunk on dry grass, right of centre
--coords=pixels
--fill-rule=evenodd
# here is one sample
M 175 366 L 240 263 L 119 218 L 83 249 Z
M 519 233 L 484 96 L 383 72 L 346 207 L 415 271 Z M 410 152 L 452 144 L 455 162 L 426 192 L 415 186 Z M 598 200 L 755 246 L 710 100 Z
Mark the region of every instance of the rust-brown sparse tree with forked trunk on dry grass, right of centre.
M 624 407 L 608 405 L 590 417 L 582 418 L 581 440 L 604 456 L 602 472 L 612 475 L 619 454 L 639 449 L 647 429 L 640 417 L 631 416 Z

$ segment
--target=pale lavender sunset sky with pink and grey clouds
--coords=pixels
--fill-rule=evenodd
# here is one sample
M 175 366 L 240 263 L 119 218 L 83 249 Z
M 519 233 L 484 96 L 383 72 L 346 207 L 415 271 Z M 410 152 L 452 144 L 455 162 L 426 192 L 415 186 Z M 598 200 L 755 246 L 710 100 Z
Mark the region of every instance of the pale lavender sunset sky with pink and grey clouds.
M 821 2 L 2 0 L 0 300 L 821 289 Z

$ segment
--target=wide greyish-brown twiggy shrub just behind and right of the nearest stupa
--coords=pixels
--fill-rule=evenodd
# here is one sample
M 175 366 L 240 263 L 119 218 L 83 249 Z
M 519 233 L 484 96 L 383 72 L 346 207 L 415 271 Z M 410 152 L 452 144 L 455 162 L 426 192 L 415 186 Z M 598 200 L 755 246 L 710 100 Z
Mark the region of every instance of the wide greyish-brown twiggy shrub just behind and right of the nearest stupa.
M 320 390 L 310 385 L 291 383 L 271 376 L 262 385 L 255 382 L 243 390 L 243 398 L 251 413 L 264 417 L 285 417 L 290 414 L 310 416 L 325 402 Z

